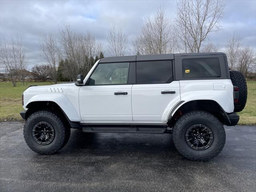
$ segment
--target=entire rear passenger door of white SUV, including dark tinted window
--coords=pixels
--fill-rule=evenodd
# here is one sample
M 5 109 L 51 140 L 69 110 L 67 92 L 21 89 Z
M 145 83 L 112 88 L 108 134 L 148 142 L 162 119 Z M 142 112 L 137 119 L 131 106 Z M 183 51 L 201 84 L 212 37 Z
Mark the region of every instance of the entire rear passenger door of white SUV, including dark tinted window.
M 180 101 L 180 84 L 173 81 L 172 60 L 136 62 L 132 86 L 134 122 L 166 122 L 163 114 Z

